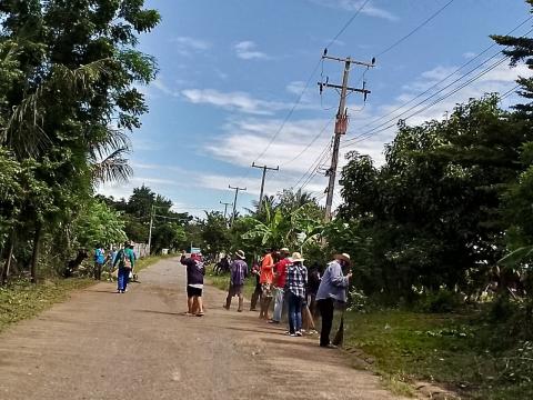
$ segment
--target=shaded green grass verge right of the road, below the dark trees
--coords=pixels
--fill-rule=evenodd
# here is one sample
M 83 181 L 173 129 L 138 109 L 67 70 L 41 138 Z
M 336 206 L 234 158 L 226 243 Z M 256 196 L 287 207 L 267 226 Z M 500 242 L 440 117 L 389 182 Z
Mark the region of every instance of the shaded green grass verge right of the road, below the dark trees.
M 363 350 L 374 370 L 396 387 L 423 380 L 449 387 L 462 398 L 531 399 L 533 383 L 510 369 L 523 349 L 499 350 L 499 329 L 474 311 L 350 312 L 345 346 Z

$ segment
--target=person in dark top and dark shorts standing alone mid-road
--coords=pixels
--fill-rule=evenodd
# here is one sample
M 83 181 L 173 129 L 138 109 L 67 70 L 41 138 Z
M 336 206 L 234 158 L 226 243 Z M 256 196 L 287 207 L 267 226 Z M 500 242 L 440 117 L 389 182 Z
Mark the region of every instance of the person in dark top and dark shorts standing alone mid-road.
M 202 256 L 192 253 L 187 258 L 185 252 L 181 254 L 180 262 L 187 267 L 187 307 L 185 316 L 203 316 L 203 276 L 205 267 L 202 262 Z

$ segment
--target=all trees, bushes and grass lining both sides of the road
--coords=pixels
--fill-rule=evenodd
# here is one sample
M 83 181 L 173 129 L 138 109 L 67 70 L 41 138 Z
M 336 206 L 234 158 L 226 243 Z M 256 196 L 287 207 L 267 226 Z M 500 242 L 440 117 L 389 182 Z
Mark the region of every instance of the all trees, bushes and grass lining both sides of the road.
M 95 196 L 131 174 L 129 133 L 148 111 L 137 88 L 157 73 L 135 46 L 160 20 L 143 1 L 95 3 L 0 2 L 0 329 L 88 284 L 57 279 L 94 246 L 147 242 L 152 226 L 154 253 L 192 243 L 251 263 L 288 247 L 323 268 L 348 252 L 346 346 L 371 368 L 464 398 L 533 398 L 533 78 L 517 81 L 511 110 L 486 93 L 444 119 L 399 121 L 381 166 L 350 152 L 331 222 L 300 188 L 230 226 L 218 211 L 177 213 L 144 186 Z M 531 39 L 493 39 L 511 67 L 533 68 Z M 227 289 L 228 277 L 208 278 Z

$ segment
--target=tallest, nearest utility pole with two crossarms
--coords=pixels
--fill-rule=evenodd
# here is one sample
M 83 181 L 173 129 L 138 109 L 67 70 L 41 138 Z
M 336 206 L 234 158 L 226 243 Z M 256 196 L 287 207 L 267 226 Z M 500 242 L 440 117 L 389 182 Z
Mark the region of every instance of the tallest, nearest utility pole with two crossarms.
M 324 88 L 334 88 L 334 89 L 340 89 L 341 90 L 341 99 L 339 101 L 339 111 L 336 112 L 336 121 L 335 121 L 335 132 L 334 132 L 334 141 L 333 141 L 333 154 L 331 157 L 331 167 L 326 172 L 326 176 L 330 177 L 330 181 L 328 183 L 328 197 L 325 199 L 325 221 L 331 220 L 331 207 L 333 203 L 333 189 L 335 187 L 335 180 L 336 180 L 336 168 L 339 166 L 339 148 L 341 143 L 341 136 L 346 133 L 346 128 L 348 128 L 348 110 L 346 110 L 346 96 L 349 92 L 360 92 L 364 96 L 364 100 L 366 101 L 366 96 L 370 93 L 370 90 L 365 89 L 365 82 L 363 82 L 363 88 L 362 89 L 356 89 L 356 88 L 350 88 L 348 86 L 348 80 L 350 77 L 350 66 L 356 64 L 356 66 L 363 66 L 366 68 L 372 68 L 374 67 L 375 60 L 372 59 L 372 63 L 366 63 L 366 62 L 361 62 L 361 61 L 355 61 L 352 60 L 350 57 L 342 59 L 338 57 L 329 57 L 326 56 L 328 51 L 324 50 L 324 54 L 322 56 L 322 59 L 328 59 L 328 60 L 334 60 L 334 61 L 340 61 L 344 62 L 344 72 L 342 76 L 342 84 L 332 84 L 329 83 L 328 81 L 324 82 L 319 82 L 320 87 L 320 92 L 324 90 Z

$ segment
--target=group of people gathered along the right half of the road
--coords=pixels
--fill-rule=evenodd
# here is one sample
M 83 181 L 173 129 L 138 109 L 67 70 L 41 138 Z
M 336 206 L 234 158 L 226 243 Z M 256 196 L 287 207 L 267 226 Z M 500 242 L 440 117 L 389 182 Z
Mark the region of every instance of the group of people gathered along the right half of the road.
M 228 258 L 227 258 L 228 259 Z M 268 249 L 260 263 L 250 269 L 245 261 L 245 253 L 238 250 L 234 259 L 229 262 L 230 282 L 228 296 L 223 307 L 230 310 L 232 298 L 238 298 L 238 312 L 244 307 L 245 279 L 251 274 L 255 278 L 255 290 L 251 298 L 250 310 L 257 311 L 260 304 L 259 318 L 269 323 L 279 324 L 283 310 L 288 314 L 288 331 L 291 337 L 301 337 L 303 326 L 306 330 L 314 330 L 314 317 L 320 312 L 322 318 L 320 346 L 334 348 L 330 341 L 335 304 L 346 302 L 346 292 L 351 278 L 350 256 L 335 254 L 334 260 L 328 263 L 321 276 L 320 268 L 313 266 L 310 270 L 304 266 L 305 259 L 299 253 L 290 253 L 289 249 L 279 251 Z M 188 316 L 202 317 L 203 277 L 205 266 L 200 254 L 189 258 L 183 252 L 181 263 L 187 267 Z M 270 309 L 273 303 L 273 313 Z

